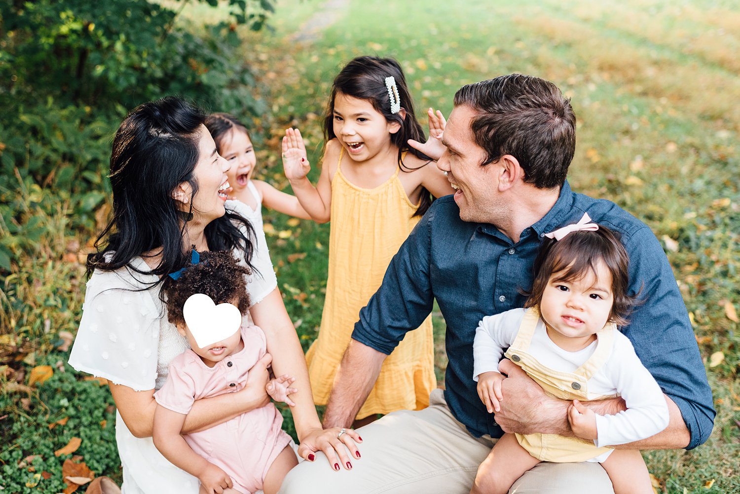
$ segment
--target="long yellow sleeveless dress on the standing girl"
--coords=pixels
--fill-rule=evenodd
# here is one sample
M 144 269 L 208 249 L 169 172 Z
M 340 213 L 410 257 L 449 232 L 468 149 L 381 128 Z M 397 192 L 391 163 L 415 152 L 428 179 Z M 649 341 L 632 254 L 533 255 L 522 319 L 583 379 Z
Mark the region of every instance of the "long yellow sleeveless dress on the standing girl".
M 403 190 L 396 170 L 374 189 L 351 184 L 343 175 L 342 148 L 332 180 L 332 227 L 329 230 L 329 278 L 321 327 L 306 353 L 315 404 L 326 404 L 334 375 L 351 339 L 360 309 L 380 287 L 391 258 L 420 217 Z M 437 387 L 431 316 L 406 337 L 383 363 L 367 401 L 357 413 L 420 410 Z

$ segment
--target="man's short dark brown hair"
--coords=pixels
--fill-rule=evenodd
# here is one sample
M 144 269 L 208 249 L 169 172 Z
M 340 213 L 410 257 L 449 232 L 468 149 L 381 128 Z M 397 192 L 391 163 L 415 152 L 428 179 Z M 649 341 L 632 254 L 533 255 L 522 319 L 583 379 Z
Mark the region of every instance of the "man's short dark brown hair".
M 562 186 L 576 149 L 571 100 L 555 84 L 511 74 L 467 84 L 455 106 L 471 107 L 475 143 L 488 154 L 482 165 L 509 154 L 519 160 L 524 181 L 540 189 Z

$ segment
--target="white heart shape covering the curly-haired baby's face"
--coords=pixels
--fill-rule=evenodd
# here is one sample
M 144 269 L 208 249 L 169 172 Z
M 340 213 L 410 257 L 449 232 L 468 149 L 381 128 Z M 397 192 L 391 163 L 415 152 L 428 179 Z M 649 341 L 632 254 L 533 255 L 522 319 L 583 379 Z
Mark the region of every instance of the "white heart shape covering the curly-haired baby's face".
M 185 323 L 198 347 L 223 341 L 241 326 L 241 313 L 233 304 L 216 305 L 205 293 L 193 293 L 183 306 Z

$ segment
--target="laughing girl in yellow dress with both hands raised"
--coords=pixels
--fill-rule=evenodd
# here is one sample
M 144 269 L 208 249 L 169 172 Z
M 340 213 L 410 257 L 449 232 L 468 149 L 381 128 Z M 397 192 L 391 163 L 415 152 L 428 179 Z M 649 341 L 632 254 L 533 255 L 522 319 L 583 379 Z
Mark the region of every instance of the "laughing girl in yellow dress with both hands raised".
M 442 114 L 428 113 L 431 133 L 440 138 Z M 329 400 L 360 309 L 428 209 L 430 193 L 454 193 L 434 161 L 408 146 L 409 139 L 423 142 L 424 134 L 393 59 L 361 56 L 343 68 L 334 79 L 324 134 L 317 187 L 306 178 L 310 166 L 300 131 L 288 129 L 283 138 L 283 166 L 295 196 L 314 221 L 332 221 L 321 327 L 306 353 L 316 404 Z M 386 358 L 357 419 L 420 410 L 435 387 L 431 318 L 426 318 Z

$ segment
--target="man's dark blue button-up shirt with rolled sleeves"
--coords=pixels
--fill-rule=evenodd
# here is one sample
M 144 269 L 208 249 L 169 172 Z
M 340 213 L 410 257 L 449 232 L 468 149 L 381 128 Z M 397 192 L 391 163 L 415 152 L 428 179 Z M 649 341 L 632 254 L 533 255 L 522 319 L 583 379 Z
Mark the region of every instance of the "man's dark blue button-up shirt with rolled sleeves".
M 622 332 L 642 363 L 681 410 L 691 434 L 688 449 L 709 437 L 715 411 L 686 307 L 657 238 L 647 225 L 611 201 L 571 191 L 566 181 L 552 209 L 514 243 L 492 224 L 460 219 L 452 196 L 434 201 L 388 266 L 383 285 L 360 310 L 352 338 L 390 354 L 406 332 L 431 312 L 434 298 L 447 323 L 449 364 L 445 398 L 468 431 L 500 437 L 473 381 L 473 339 L 483 316 L 523 307 L 534 258 L 545 233 L 593 222 L 621 234 L 630 255 L 630 293 L 645 301 Z

